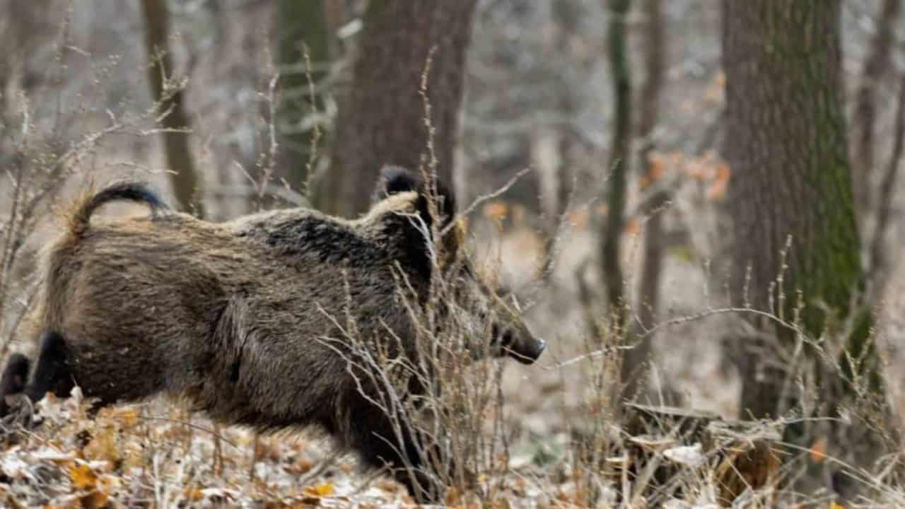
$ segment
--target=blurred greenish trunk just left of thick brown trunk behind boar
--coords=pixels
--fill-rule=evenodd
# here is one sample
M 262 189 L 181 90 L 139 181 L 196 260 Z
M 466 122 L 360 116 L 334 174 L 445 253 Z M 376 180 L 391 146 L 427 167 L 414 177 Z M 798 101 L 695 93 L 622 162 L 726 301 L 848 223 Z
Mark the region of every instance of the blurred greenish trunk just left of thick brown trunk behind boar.
M 301 120 L 317 111 L 323 111 L 323 102 L 315 94 L 311 101 L 310 80 L 321 83 L 329 63 L 329 32 L 324 0 L 280 0 L 277 16 L 277 49 L 282 66 L 293 66 L 281 72 L 281 101 L 277 114 L 280 133 L 278 168 L 290 186 L 308 194 L 309 168 L 316 159 L 312 151 L 322 148 L 314 139 L 314 129 L 301 125 Z M 306 75 L 302 44 L 308 46 L 311 67 Z M 322 138 L 321 138 L 322 139 Z

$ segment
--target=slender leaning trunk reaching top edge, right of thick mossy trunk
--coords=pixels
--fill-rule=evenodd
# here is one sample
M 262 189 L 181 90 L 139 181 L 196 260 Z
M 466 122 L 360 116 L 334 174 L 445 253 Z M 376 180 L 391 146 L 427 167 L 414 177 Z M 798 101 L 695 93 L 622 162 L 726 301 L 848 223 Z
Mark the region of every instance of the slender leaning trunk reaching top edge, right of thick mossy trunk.
M 899 19 L 900 0 L 883 0 L 877 16 L 877 33 L 871 50 L 864 60 L 861 82 L 855 96 L 853 115 L 853 172 L 855 204 L 862 214 L 872 202 L 871 175 L 873 173 L 873 134 L 877 117 L 877 88 L 883 75 L 890 68 L 892 43 L 895 39 L 896 21 Z

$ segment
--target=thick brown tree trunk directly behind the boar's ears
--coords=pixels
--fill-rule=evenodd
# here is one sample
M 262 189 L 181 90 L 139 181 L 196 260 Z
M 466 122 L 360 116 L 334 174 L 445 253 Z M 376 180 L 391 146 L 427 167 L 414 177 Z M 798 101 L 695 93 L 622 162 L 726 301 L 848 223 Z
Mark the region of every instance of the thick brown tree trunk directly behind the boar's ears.
M 367 209 L 377 170 L 385 164 L 433 169 L 452 182 L 459 135 L 465 50 L 476 0 L 371 0 L 355 63 L 353 88 L 340 108 L 328 178 L 336 181 L 331 213 L 355 216 Z M 434 49 L 435 48 L 435 49 Z M 433 49 L 433 53 L 432 53 Z M 427 98 L 422 75 L 432 56 Z M 433 148 L 433 154 L 432 150 Z M 328 189 L 325 192 L 330 193 Z

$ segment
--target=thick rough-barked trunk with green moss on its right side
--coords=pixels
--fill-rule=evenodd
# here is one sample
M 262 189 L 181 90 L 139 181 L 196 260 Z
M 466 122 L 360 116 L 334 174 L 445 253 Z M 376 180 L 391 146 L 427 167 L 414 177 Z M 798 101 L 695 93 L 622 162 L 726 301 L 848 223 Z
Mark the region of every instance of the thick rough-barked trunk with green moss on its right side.
M 738 305 L 800 323 L 811 339 L 841 343 L 839 357 L 827 359 L 829 350 L 799 342 L 791 328 L 753 319 L 773 333 L 779 350 L 764 335 L 739 341 L 740 410 L 754 418 L 806 411 L 786 427 L 790 457 L 797 456 L 793 447 L 824 437 L 827 454 L 842 463 L 805 459 L 809 475 L 796 477 L 795 489 L 831 488 L 844 501 L 859 491 L 845 465 L 871 466 L 889 447 L 883 440 L 896 440 L 898 428 L 890 420 L 871 313 L 863 305 L 841 101 L 840 17 L 840 0 L 726 0 L 722 44 L 733 296 Z M 796 346 L 802 350 L 794 358 Z M 814 405 L 805 406 L 796 387 L 802 372 L 814 375 Z

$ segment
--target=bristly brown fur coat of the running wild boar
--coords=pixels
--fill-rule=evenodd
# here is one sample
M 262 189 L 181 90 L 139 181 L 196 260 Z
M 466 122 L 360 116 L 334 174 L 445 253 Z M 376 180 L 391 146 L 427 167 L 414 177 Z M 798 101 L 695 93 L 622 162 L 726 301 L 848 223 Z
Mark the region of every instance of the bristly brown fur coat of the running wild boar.
M 74 381 L 101 403 L 165 393 L 227 424 L 319 426 L 367 465 L 405 465 L 414 435 L 394 446 L 392 423 L 348 370 L 356 352 L 338 326 L 350 316 L 365 344 L 386 346 L 392 331 L 402 342 L 395 355 L 414 350 L 416 324 L 397 276 L 401 268 L 413 302 L 425 301 L 436 249 L 423 226 L 433 217 L 416 179 L 399 170 L 385 177 L 370 212 L 351 221 L 296 208 L 214 224 L 169 211 L 134 182 L 79 198 L 45 257 L 44 337 L 27 392 L 40 398 Z M 114 200 L 153 214 L 92 224 L 92 212 Z M 444 248 L 458 252 L 462 232 L 452 232 Z M 468 277 L 453 279 L 481 303 L 472 321 L 483 330 L 496 301 Z M 536 359 L 542 341 L 513 323 L 493 327 L 512 331 L 510 352 Z M 424 475 L 397 476 L 423 499 L 441 491 Z

